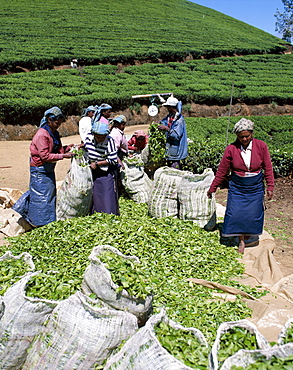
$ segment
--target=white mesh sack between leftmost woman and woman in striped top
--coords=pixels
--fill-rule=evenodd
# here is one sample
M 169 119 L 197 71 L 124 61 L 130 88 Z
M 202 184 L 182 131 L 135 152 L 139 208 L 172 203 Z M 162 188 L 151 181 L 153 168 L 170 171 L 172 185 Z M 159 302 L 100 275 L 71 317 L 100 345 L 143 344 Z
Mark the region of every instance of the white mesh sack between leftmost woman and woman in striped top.
M 57 192 L 57 220 L 86 216 L 93 198 L 93 178 L 85 157 L 71 160 L 70 169 Z

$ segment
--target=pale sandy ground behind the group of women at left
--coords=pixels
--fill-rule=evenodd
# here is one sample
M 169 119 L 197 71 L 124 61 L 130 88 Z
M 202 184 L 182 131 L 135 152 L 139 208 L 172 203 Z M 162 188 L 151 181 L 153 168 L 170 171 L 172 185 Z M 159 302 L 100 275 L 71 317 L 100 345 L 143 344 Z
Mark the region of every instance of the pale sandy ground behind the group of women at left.
M 148 131 L 149 125 L 125 127 L 125 135 L 132 135 L 136 130 Z M 79 144 L 80 137 L 68 136 L 61 139 L 63 145 Z M 30 141 L 0 141 L 0 188 L 19 189 L 23 192 L 29 188 L 29 146 Z M 70 160 L 57 162 L 56 180 L 63 181 L 70 167 Z

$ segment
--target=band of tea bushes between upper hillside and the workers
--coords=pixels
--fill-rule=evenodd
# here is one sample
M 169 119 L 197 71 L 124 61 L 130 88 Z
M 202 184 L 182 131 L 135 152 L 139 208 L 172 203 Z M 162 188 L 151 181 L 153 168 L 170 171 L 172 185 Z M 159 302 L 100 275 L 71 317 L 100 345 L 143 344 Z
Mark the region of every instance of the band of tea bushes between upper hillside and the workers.
M 0 120 L 5 124 L 39 122 L 57 105 L 80 114 L 90 104 L 131 107 L 132 95 L 173 92 L 185 104 L 233 102 L 292 104 L 293 55 L 257 55 L 186 63 L 130 66 L 121 73 L 111 65 L 79 70 L 38 71 L 0 77 Z M 149 101 L 140 100 L 140 103 Z

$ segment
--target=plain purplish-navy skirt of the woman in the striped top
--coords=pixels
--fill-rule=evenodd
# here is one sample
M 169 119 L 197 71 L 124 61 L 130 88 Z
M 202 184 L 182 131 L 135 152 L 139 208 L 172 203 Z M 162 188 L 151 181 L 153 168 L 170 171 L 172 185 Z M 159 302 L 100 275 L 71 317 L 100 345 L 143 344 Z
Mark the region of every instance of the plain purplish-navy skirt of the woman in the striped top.
M 93 173 L 92 213 L 101 212 L 119 215 L 117 176 L 115 171 L 102 171 L 97 168 Z

